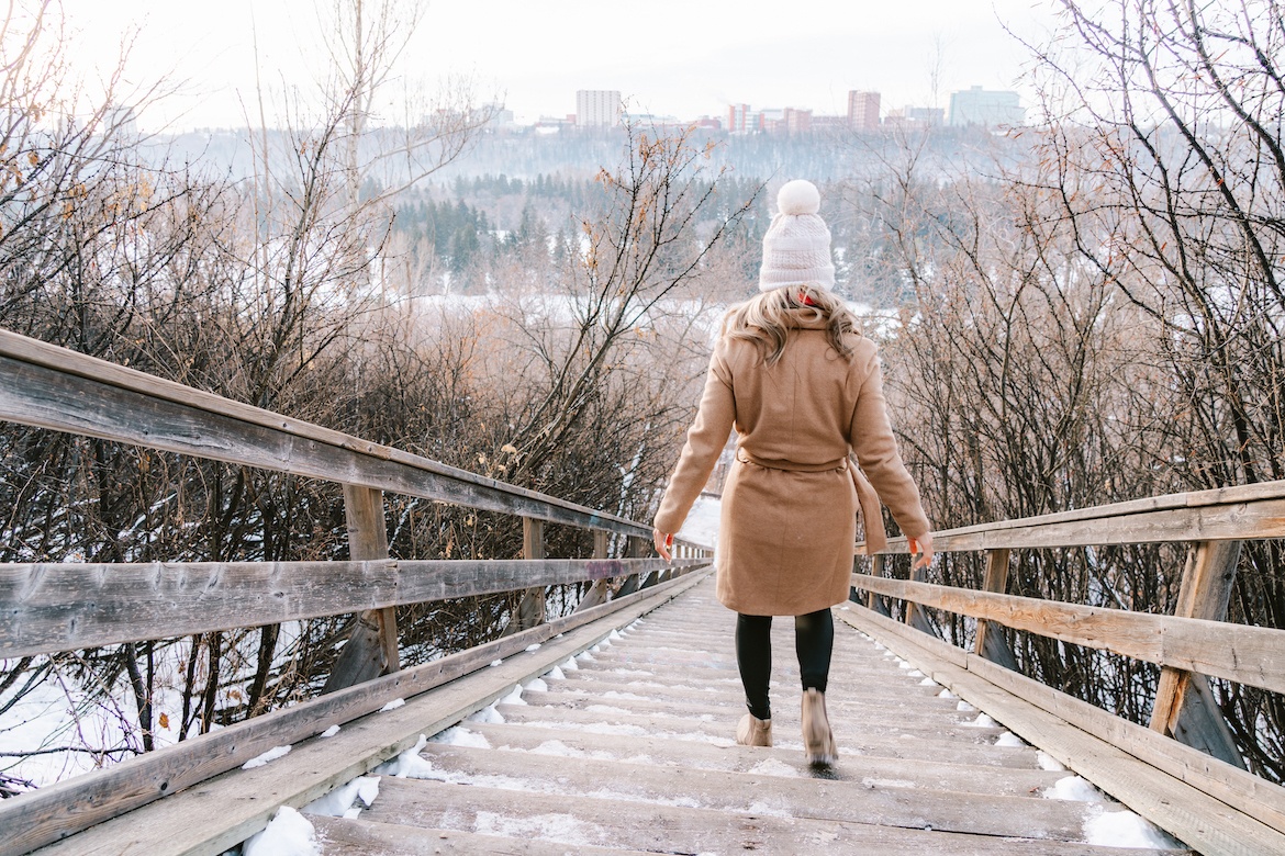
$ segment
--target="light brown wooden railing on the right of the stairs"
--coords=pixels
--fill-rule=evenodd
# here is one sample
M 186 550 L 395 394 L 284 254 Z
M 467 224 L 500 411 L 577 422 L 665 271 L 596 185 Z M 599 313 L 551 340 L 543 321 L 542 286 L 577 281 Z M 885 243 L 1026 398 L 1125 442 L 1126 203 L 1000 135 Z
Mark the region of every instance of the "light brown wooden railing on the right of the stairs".
M 887 556 L 907 553 L 891 540 L 856 572 L 865 606 L 905 602 L 903 625 L 933 633 L 925 608 L 977 620 L 971 651 L 933 644 L 956 665 L 1181 779 L 1237 812 L 1285 833 L 1285 788 L 1248 773 L 1213 702 L 1207 676 L 1285 692 L 1285 630 L 1226 621 L 1243 542 L 1285 538 L 1285 481 L 1154 497 L 1094 508 L 934 533 L 939 553 L 980 551 L 980 590 L 885 576 Z M 1014 552 L 1114 544 L 1191 545 L 1174 615 L 1061 603 L 1006 594 Z M 860 551 L 860 545 L 858 545 Z M 865 560 L 857 560 L 858 565 Z M 880 626 L 889 626 L 880 620 Z M 1160 666 L 1150 726 L 1137 725 L 1033 681 L 993 625 L 1104 649 Z M 908 628 L 907 628 L 908 630 Z M 905 634 L 906 631 L 898 631 Z M 905 635 L 914 642 L 921 634 Z M 955 652 L 955 653 L 951 653 Z M 1178 738 L 1178 739 L 1173 739 Z

